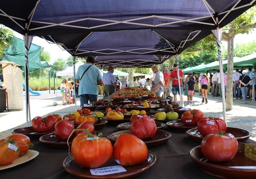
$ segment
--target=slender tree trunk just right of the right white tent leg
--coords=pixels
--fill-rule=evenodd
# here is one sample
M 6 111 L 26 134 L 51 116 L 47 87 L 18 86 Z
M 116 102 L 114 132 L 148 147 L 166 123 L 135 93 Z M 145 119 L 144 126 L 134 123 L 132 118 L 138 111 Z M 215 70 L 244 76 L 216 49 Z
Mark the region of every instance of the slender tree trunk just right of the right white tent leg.
M 228 82 L 226 92 L 226 110 L 233 108 L 233 71 L 234 71 L 234 36 L 227 39 L 228 42 Z

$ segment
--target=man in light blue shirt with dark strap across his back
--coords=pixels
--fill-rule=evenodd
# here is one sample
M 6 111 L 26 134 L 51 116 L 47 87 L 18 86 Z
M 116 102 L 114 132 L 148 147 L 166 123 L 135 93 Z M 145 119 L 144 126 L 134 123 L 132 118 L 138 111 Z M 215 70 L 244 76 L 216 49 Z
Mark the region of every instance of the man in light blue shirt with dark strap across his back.
M 99 68 L 94 66 L 94 63 L 94 57 L 88 56 L 86 63 L 78 67 L 75 76 L 75 82 L 79 83 L 78 95 L 80 97 L 81 107 L 83 107 L 84 104 L 88 104 L 88 102 L 97 101 L 99 94 L 98 85 L 102 85 Z

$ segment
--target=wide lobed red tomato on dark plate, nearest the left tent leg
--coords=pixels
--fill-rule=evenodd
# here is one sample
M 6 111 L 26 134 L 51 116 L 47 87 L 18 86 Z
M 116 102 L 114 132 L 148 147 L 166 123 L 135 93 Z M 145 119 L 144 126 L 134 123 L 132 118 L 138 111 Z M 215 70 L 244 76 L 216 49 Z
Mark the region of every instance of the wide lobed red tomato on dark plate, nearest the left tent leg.
M 37 133 L 52 132 L 54 125 L 57 123 L 57 118 L 54 115 L 48 115 L 45 118 L 35 117 L 31 121 L 31 127 Z

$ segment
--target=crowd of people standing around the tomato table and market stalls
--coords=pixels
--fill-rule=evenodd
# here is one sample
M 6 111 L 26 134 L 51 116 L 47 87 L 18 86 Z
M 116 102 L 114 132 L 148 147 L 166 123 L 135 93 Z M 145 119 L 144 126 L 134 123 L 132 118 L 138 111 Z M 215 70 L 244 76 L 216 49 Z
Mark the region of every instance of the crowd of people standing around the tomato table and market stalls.
M 97 100 L 99 85 L 102 86 L 103 97 L 107 97 L 122 88 L 130 87 L 128 77 L 121 77 L 119 79 L 113 75 L 113 66 L 109 66 L 108 72 L 101 77 L 99 68 L 94 66 L 94 63 L 95 59 L 93 57 L 87 57 L 86 64 L 79 66 L 75 76 L 76 85 L 78 84 L 80 86 L 78 95 L 80 97 L 81 107 L 89 101 L 92 102 Z M 183 95 L 187 96 L 188 104 L 193 104 L 193 95 L 196 84 L 198 84 L 199 95 L 202 96 L 202 103 L 208 103 L 208 95 L 222 97 L 219 70 L 210 74 L 209 77 L 204 73 L 200 73 L 198 76 L 193 75 L 193 73 L 185 75 L 183 71 L 178 68 L 178 65 L 174 64 L 172 69 L 168 69 L 167 66 L 164 67 L 163 72 L 158 69 L 157 65 L 153 65 L 152 72 L 154 73 L 152 78 L 145 79 L 145 77 L 139 77 L 139 79 L 137 79 L 135 77 L 133 82 L 137 83 L 139 87 L 145 87 L 147 89 L 157 86 L 158 90 L 155 93 L 163 98 L 169 97 L 170 91 L 172 91 L 174 102 L 178 103 L 177 95 L 179 95 L 182 106 L 184 106 Z M 228 77 L 227 72 L 224 74 L 224 87 L 226 93 Z M 246 102 L 247 93 L 249 91 L 249 96 L 252 100 L 253 88 L 254 90 L 256 89 L 255 77 L 256 67 L 254 68 L 254 71 L 252 68 L 248 68 L 248 72 L 246 70 L 235 70 L 232 78 L 234 99 L 243 99 L 243 102 Z M 67 82 L 67 79 L 64 79 L 60 87 L 61 90 L 63 90 L 63 104 L 67 101 L 67 96 L 64 93 L 64 90 L 68 88 Z

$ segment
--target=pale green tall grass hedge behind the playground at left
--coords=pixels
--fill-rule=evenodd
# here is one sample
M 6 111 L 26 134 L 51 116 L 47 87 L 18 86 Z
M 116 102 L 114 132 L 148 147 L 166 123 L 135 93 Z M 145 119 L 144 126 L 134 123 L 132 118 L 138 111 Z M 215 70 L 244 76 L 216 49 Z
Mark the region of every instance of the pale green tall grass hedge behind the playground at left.
M 60 87 L 61 82 L 63 81 L 62 78 L 55 78 L 55 89 Z M 25 79 L 23 79 L 25 83 Z M 54 80 L 53 78 L 50 79 L 50 86 L 51 90 L 54 89 Z M 34 91 L 46 91 L 49 90 L 49 78 L 47 77 L 30 77 L 29 78 L 29 87 Z

